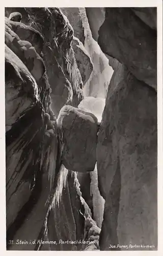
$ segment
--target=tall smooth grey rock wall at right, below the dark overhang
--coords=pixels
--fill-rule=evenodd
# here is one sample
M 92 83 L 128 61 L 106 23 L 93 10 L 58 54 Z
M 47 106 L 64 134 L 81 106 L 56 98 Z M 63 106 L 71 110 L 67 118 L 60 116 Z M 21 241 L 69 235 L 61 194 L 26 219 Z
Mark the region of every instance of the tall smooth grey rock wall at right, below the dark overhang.
M 98 133 L 97 169 L 105 199 L 101 250 L 157 249 L 157 96 L 119 63 Z M 129 248 L 140 250 L 140 248 Z

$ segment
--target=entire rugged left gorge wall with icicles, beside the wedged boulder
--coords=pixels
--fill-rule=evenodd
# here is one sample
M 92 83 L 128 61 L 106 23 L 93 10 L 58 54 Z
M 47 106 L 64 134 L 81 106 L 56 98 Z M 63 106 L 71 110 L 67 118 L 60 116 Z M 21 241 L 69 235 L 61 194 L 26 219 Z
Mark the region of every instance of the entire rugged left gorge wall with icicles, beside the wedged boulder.
M 5 19 L 7 249 L 79 250 L 80 244 L 40 243 L 41 239 L 88 240 L 85 219 L 91 219 L 91 211 L 79 191 L 76 174 L 61 166 L 57 120 L 52 111 L 58 110 L 50 98 L 56 93 L 53 81 L 59 74 L 60 86 L 64 88 L 64 80 L 71 87 L 70 103 L 80 101 L 83 83 L 70 46 L 73 31 L 58 8 L 31 9 L 6 10 L 8 16 L 12 11 L 21 12 L 22 23 L 15 14 L 10 15 L 12 20 Z M 51 16 L 59 22 L 57 32 L 53 27 L 45 31 L 44 20 L 50 23 Z M 47 36 L 50 33 L 53 37 Z M 52 47 L 49 52 L 48 47 Z M 66 57 L 71 58 L 71 64 L 64 60 Z M 50 63 L 55 63 L 53 80 Z M 58 96 L 62 101 L 61 93 Z M 63 96 L 64 103 L 69 101 L 68 94 Z M 9 243 L 20 239 L 33 243 Z

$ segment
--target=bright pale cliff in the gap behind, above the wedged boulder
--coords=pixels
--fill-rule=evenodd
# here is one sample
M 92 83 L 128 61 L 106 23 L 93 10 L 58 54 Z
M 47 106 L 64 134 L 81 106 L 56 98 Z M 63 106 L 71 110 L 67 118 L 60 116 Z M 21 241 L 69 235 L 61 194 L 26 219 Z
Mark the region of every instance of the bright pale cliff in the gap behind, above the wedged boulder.
M 113 70 L 108 65 L 108 60 L 102 53 L 97 42 L 93 39 L 94 37 L 92 38 L 91 26 L 88 23 L 86 9 L 61 8 L 74 29 L 74 36 L 83 43 L 93 62 L 93 72 L 84 86 L 84 96 L 105 98 Z M 96 12 L 97 9 L 103 8 L 93 8 L 94 12 Z M 98 10 L 97 14 L 99 14 Z M 96 18 L 96 15 L 94 15 L 94 17 Z M 95 20 L 95 24 L 98 23 L 98 20 Z

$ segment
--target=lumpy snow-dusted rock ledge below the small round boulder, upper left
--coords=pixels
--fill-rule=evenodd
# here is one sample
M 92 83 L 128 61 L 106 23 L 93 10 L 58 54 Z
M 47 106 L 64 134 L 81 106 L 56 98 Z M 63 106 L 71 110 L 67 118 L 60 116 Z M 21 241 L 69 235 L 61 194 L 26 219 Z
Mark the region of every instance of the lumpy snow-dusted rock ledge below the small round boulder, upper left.
M 20 40 L 18 34 L 22 40 Z M 26 41 L 28 37 L 33 38 L 34 47 L 31 44 L 32 40 L 31 42 L 30 40 Z M 41 46 L 38 42 L 42 40 L 43 37 L 35 29 L 22 23 L 9 22 L 6 18 L 5 43 L 23 61 L 36 81 L 39 81 L 45 73 L 44 62 L 37 53 L 41 52 Z

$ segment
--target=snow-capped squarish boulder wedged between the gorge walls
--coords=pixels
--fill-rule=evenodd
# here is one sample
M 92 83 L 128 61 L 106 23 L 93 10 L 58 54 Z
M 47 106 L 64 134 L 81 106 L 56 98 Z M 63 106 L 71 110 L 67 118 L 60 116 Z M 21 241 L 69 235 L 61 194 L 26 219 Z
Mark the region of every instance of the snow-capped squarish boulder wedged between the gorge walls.
M 61 109 L 57 123 L 63 140 L 62 163 L 65 167 L 76 172 L 94 170 L 97 118 L 92 113 L 66 105 Z

